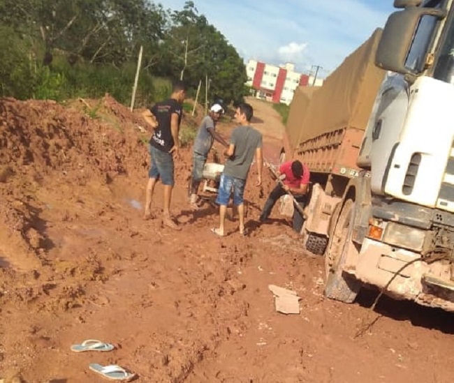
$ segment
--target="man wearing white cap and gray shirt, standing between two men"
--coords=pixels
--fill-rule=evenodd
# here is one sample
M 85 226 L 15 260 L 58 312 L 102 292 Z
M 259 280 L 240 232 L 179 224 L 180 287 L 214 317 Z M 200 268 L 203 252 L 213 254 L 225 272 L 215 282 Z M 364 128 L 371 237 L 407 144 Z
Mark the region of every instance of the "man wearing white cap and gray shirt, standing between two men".
M 190 204 L 196 209 L 197 206 L 197 190 L 200 182 L 203 179 L 203 167 L 207 162 L 208 153 L 210 152 L 214 140 L 228 147 L 228 143 L 224 138 L 219 135 L 216 131 L 217 121 L 221 117 L 221 114 L 224 113 L 224 108 L 219 104 L 214 104 L 210 108 L 210 114 L 208 114 L 200 123 L 200 128 L 198 128 L 198 133 L 196 140 L 194 140 L 193 146 L 193 162 L 192 162 L 192 174 L 191 174 L 191 183 L 189 188 L 191 190 Z

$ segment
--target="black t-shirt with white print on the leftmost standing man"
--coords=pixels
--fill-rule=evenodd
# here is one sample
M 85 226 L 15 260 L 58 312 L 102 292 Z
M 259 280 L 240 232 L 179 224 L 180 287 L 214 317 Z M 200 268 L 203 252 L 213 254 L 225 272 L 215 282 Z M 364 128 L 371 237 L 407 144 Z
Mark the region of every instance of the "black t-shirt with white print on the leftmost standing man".
M 150 112 L 154 114 L 158 121 L 158 127 L 154 129 L 152 138 L 149 143 L 161 151 L 170 151 L 175 144 L 173 142 L 172 130 L 170 129 L 170 121 L 172 121 L 172 114 L 178 114 L 178 126 L 182 121 L 182 105 L 174 98 L 156 103 L 153 107 L 149 108 Z

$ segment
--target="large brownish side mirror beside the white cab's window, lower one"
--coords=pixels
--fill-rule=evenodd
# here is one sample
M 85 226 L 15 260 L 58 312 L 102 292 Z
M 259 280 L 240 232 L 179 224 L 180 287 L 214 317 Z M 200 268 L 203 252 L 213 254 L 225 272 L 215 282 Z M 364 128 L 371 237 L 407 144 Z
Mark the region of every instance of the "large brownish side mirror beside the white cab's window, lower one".
M 402 3 L 404 2 L 402 1 Z M 428 47 L 424 44 L 429 45 L 432 40 L 430 27 L 434 27 L 434 23 L 423 22 L 425 17 L 441 20 L 446 17 L 446 10 L 409 6 L 391 14 L 381 34 L 375 55 L 375 65 L 402 75 L 418 75 L 423 72 L 425 63 L 420 63 L 420 61 L 427 56 Z M 419 27 L 423 29 L 421 31 L 423 41 L 415 38 Z M 427 31 L 424 29 L 427 29 Z M 420 46 L 416 47 L 417 55 L 410 57 L 413 41 L 415 45 Z M 418 62 L 414 63 L 413 61 L 416 60 Z M 407 61 L 412 62 L 408 63 Z

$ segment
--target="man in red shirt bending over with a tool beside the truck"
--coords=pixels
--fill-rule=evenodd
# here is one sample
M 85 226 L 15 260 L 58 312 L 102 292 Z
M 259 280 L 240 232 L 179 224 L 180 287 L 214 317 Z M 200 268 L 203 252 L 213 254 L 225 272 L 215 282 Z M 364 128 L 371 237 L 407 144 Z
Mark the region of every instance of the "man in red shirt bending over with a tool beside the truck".
M 268 196 L 268 200 L 265 202 L 265 206 L 263 206 L 263 210 L 259 218 L 260 222 L 264 223 L 268 219 L 274 204 L 276 204 L 277 200 L 279 200 L 279 198 L 285 195 L 288 191 L 294 195 L 295 200 L 298 202 L 304 202 L 307 188 L 309 187 L 310 175 L 311 174 L 307 166 L 302 165 L 302 163 L 298 160 L 283 163 L 279 167 L 279 179 L 282 179 L 284 186 L 281 186 L 281 183 L 278 183 L 272 190 Z M 299 232 L 301 230 L 302 222 L 303 218 L 301 213 L 298 209 L 294 209 L 293 230 Z

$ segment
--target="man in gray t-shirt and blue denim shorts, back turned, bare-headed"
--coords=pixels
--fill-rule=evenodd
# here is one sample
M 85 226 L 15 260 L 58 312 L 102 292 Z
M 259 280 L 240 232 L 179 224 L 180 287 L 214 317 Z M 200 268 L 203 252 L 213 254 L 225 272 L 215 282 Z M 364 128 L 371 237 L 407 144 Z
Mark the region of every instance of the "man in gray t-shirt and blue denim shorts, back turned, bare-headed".
M 251 105 L 240 104 L 235 113 L 235 119 L 240 126 L 235 128 L 230 137 L 230 145 L 225 154 L 228 157 L 224 172 L 219 183 L 217 204 L 219 204 L 219 228 L 213 227 L 212 232 L 224 236 L 224 221 L 226 218 L 227 204 L 233 191 L 233 204 L 237 206 L 240 216 L 240 234 L 244 235 L 244 186 L 251 168 L 254 155 L 256 156 L 258 181 L 256 186 L 261 186 L 263 153 L 262 135 L 249 123 L 253 115 Z

